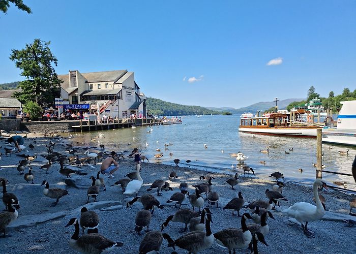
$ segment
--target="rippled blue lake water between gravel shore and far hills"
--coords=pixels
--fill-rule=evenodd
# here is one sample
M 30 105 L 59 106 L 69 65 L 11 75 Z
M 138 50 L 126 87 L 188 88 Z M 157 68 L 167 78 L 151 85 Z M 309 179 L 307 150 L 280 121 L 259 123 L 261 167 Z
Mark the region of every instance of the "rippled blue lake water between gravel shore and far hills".
M 251 134 L 238 132 L 238 115 L 186 116 L 182 121 L 182 124 L 153 126 L 151 133 L 147 133 L 150 127 L 137 127 L 73 134 L 72 141 L 87 146 L 104 144 L 105 150 L 115 151 L 131 152 L 134 147 L 138 147 L 141 154 L 147 156 L 152 163 L 174 165 L 174 158 L 179 158 L 181 166 L 209 171 L 231 171 L 231 174 L 236 171 L 231 165 L 236 166 L 238 162 L 229 153 L 241 151 L 249 157 L 245 165 L 253 168 L 258 177 L 267 178 L 271 173 L 279 171 L 284 174 L 285 180 L 311 183 L 315 179 L 313 163 L 316 163 L 316 139 L 263 135 L 252 138 Z M 165 150 L 165 144 L 172 145 Z M 157 148 L 163 152 L 159 161 L 154 158 L 154 154 L 158 153 Z M 269 154 L 260 152 L 267 148 L 270 149 Z M 293 151 L 289 151 L 289 148 L 293 148 Z M 346 147 L 323 144 L 325 170 L 351 174 L 356 149 L 349 147 L 349 156 L 339 155 L 338 150 L 345 151 Z M 285 151 L 290 154 L 285 154 Z M 169 155 L 170 152 L 173 153 L 172 156 Z M 186 160 L 192 162 L 188 165 Z M 265 164 L 260 164 L 259 161 L 265 161 Z M 302 173 L 299 168 L 303 169 Z M 322 177 L 332 185 L 335 185 L 333 181 L 346 181 L 348 189 L 356 189 L 352 177 L 327 173 Z

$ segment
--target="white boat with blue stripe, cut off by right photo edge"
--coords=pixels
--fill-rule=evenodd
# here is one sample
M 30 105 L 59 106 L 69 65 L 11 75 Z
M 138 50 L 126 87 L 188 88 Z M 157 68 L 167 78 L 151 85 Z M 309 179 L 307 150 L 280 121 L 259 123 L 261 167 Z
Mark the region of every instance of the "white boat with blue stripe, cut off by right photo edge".
M 356 101 L 340 103 L 337 128 L 322 129 L 322 142 L 356 146 Z

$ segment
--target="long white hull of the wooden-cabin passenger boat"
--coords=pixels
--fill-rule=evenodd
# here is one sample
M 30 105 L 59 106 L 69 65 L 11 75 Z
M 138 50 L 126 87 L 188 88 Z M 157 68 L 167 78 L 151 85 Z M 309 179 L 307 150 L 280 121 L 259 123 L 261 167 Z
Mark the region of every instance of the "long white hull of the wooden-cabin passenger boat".
M 239 127 L 239 132 L 261 134 L 261 135 L 315 138 L 317 129 L 318 128 L 249 128 L 249 127 Z

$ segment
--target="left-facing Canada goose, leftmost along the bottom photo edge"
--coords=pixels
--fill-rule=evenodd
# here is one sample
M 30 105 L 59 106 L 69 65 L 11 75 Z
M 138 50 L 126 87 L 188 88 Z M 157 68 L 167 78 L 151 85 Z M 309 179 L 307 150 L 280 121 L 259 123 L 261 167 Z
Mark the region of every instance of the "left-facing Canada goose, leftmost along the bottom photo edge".
M 79 223 L 76 218 L 71 218 L 66 227 L 74 225 L 75 231 L 69 239 L 69 246 L 81 253 L 101 253 L 124 246 L 122 242 L 114 242 L 99 234 L 87 234 L 79 237 Z

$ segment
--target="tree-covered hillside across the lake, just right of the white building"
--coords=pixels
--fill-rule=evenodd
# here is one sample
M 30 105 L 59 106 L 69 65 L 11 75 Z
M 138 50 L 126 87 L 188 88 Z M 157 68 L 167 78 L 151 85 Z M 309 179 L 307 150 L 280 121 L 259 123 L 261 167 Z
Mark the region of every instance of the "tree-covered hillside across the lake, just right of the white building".
M 147 98 L 146 107 L 149 114 L 153 115 L 207 115 L 221 114 L 221 112 L 209 110 L 199 106 L 186 106 L 165 102 L 155 98 Z

